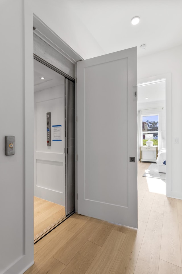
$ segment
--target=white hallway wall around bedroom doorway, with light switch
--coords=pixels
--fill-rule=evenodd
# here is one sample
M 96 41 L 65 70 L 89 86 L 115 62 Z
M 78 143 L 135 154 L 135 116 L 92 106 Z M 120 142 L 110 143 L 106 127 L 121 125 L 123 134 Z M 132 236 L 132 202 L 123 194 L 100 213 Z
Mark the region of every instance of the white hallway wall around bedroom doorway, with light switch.
M 138 59 L 138 79 L 166 74 L 169 72 L 171 72 L 172 92 L 172 181 L 170 196 L 182 199 L 182 184 L 181 179 L 179 178 L 182 151 L 182 45 Z M 179 144 L 174 143 L 175 137 L 179 137 Z

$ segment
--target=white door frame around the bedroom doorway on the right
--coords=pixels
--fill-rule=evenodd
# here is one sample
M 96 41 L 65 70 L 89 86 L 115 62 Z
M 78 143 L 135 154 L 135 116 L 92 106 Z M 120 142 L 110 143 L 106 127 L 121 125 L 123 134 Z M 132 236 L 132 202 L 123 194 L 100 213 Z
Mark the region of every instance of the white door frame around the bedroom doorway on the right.
M 166 81 L 166 196 L 172 197 L 172 110 L 171 110 L 171 73 L 160 74 L 138 80 L 138 84 L 145 84 L 156 80 Z

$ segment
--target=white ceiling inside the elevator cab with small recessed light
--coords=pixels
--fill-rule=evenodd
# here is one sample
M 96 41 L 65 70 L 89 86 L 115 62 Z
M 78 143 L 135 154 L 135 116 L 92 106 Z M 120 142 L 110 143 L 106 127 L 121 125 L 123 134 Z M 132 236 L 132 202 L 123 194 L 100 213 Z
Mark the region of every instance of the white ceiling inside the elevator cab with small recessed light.
M 41 76 L 45 79 L 40 79 Z M 64 79 L 64 76 L 34 59 L 34 92 L 63 84 Z

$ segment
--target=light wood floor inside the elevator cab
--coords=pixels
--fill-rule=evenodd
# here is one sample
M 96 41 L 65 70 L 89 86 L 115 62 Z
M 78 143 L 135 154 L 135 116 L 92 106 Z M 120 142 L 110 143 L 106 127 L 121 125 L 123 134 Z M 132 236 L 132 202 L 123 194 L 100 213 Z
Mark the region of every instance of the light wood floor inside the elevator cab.
M 34 197 L 34 240 L 64 216 L 64 206 Z

